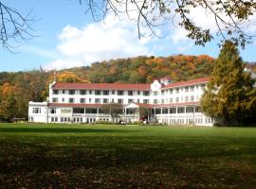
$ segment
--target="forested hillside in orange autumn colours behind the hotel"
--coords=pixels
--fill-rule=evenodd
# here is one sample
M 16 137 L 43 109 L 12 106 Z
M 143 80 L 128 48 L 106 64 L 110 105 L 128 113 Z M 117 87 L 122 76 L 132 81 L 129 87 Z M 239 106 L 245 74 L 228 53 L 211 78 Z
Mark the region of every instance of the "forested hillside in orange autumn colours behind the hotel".
M 91 66 L 46 72 L 0 73 L 0 120 L 27 117 L 28 101 L 46 100 L 48 83 L 60 82 L 151 83 L 155 78 L 172 77 L 175 81 L 210 75 L 213 59 L 201 56 L 137 57 L 95 62 Z M 256 71 L 256 63 L 247 64 Z

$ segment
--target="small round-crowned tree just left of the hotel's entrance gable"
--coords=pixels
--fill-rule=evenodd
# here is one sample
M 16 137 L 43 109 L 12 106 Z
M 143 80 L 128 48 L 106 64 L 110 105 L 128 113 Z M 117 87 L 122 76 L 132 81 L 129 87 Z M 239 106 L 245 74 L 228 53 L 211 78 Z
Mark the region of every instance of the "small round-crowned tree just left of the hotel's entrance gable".
M 122 105 L 119 103 L 103 104 L 101 111 L 105 114 L 110 114 L 112 122 L 114 123 L 115 118 L 119 118 L 122 113 Z

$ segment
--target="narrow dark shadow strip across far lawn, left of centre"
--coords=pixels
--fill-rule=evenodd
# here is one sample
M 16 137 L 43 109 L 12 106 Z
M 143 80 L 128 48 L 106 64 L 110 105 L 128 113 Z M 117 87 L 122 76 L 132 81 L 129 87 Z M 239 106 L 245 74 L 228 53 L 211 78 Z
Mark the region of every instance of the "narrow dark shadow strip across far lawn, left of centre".
M 127 133 L 137 132 L 139 130 L 127 130 L 127 129 L 58 129 L 58 128 L 2 128 L 1 132 L 30 132 L 30 133 Z

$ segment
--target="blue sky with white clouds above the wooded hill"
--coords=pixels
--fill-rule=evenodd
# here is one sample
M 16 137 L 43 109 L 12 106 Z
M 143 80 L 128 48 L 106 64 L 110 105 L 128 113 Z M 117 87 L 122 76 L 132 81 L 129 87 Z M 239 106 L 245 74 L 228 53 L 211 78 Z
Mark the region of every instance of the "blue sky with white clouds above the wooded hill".
M 10 8 L 17 9 L 34 18 L 32 39 L 15 43 L 12 53 L 0 47 L 0 72 L 29 71 L 43 67 L 46 70 L 90 65 L 101 60 L 113 60 L 136 56 L 210 55 L 219 53 L 218 37 L 205 47 L 194 45 L 186 32 L 178 26 L 168 24 L 155 28 L 153 35 L 138 38 L 137 24 L 126 17 L 117 18 L 109 13 L 102 21 L 94 21 L 85 13 L 79 0 L 0 0 Z M 195 23 L 217 28 L 205 12 L 192 12 Z M 133 16 L 133 15 L 132 15 Z M 256 32 L 256 16 L 246 26 Z M 141 28 L 149 33 L 147 28 Z M 255 41 L 256 42 L 256 41 Z M 256 43 L 240 49 L 246 61 L 256 61 Z

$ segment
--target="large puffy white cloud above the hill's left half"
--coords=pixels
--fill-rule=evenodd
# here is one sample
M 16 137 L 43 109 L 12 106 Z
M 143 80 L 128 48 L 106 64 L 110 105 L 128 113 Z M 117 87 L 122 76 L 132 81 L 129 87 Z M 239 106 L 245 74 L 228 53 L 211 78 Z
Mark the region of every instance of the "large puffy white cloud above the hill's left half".
M 119 21 L 113 15 L 82 28 L 65 26 L 59 39 L 57 50 L 61 59 L 47 63 L 46 69 L 62 69 L 88 65 L 94 61 L 150 55 L 147 44 L 152 40 L 139 40 L 136 23 Z

